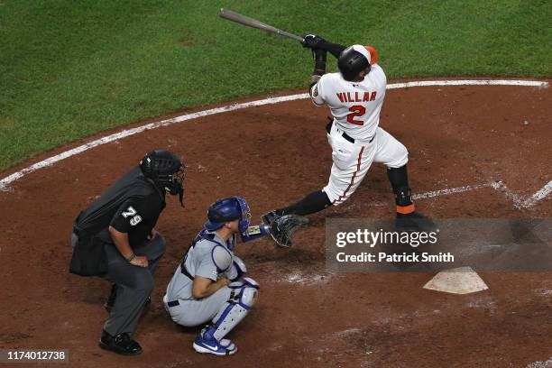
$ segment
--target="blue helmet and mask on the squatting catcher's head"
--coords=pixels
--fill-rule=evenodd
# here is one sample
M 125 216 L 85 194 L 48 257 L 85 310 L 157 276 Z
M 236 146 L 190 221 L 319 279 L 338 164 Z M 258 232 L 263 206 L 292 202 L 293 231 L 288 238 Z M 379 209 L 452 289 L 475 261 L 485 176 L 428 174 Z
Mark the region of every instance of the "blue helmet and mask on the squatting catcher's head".
M 209 231 L 219 229 L 225 223 L 239 219 L 238 229 L 244 233 L 249 227 L 251 213 L 244 198 L 230 197 L 216 200 L 207 210 L 207 218 L 205 227 Z

